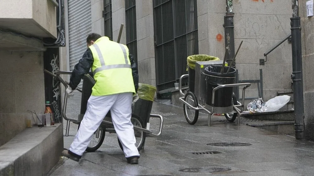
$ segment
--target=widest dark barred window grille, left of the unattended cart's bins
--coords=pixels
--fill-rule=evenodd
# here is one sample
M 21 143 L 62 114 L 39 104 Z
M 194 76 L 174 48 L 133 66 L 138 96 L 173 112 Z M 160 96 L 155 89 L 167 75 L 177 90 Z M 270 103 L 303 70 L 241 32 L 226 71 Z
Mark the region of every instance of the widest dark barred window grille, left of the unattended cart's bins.
M 197 0 L 153 0 L 158 93 L 187 74 L 187 56 L 198 54 Z M 183 86 L 187 85 L 187 80 Z

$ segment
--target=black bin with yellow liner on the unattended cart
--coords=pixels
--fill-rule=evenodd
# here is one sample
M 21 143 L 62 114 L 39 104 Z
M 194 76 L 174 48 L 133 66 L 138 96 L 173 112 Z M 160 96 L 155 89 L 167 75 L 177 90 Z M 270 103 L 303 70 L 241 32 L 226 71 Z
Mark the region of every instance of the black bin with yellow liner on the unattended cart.
M 195 63 L 198 61 L 219 61 L 218 57 L 205 54 L 192 55 L 187 57 L 187 71 L 189 74 L 189 91 L 194 93 L 195 89 Z

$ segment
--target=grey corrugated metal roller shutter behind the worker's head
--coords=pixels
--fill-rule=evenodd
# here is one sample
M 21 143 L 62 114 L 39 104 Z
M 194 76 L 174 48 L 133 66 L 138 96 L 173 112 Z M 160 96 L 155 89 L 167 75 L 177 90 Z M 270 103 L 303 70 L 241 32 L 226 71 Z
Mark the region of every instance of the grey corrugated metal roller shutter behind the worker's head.
M 86 51 L 86 37 L 92 32 L 90 0 L 68 0 L 70 71 Z M 78 87 L 82 87 L 82 81 Z

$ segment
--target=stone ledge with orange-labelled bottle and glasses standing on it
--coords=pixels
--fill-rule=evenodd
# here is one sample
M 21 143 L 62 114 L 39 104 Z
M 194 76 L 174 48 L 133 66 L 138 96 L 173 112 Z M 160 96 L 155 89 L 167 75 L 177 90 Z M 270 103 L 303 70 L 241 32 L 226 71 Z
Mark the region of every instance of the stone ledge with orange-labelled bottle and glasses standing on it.
M 46 175 L 63 150 L 62 124 L 27 128 L 0 147 L 0 176 Z

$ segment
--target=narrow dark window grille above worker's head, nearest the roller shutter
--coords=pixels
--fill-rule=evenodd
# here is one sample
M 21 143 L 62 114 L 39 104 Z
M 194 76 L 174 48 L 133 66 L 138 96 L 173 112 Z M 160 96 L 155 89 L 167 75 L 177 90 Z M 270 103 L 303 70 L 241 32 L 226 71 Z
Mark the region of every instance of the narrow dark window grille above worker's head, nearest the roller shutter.
M 105 24 L 105 36 L 109 37 L 110 40 L 112 39 L 112 6 L 111 0 L 104 0 L 104 24 Z

